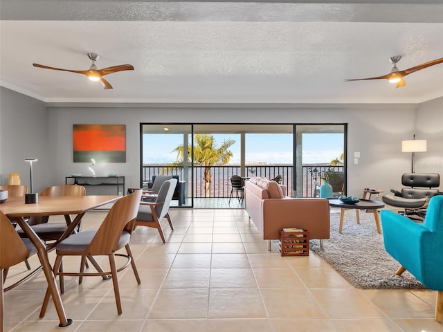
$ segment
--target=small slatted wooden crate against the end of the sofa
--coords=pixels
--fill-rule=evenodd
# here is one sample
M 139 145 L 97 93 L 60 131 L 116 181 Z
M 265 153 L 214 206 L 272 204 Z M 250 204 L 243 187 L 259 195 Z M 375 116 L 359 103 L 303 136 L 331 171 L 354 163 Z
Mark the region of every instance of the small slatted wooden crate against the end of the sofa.
M 280 230 L 282 256 L 309 256 L 309 232 L 300 228 Z

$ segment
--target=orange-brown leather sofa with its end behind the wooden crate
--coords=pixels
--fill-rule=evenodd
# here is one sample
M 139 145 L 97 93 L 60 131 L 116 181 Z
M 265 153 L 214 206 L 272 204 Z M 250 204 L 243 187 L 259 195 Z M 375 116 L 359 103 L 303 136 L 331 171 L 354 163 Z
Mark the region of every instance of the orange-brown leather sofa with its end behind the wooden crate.
M 267 178 L 245 182 L 245 209 L 257 230 L 264 240 L 277 240 L 283 228 L 302 228 L 309 232 L 309 239 L 320 239 L 323 246 L 322 240 L 330 234 L 327 199 L 292 198 L 285 196 L 285 189 Z

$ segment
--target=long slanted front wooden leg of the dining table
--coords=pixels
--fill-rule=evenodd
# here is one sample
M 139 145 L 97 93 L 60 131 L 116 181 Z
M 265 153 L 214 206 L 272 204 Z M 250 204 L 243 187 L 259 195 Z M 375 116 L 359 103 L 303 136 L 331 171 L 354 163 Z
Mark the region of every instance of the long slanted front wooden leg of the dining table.
M 66 313 L 64 312 L 63 303 L 62 303 L 62 297 L 60 297 L 60 292 L 58 291 L 57 283 L 55 282 L 53 269 L 51 267 L 51 263 L 49 263 L 46 246 L 23 218 L 17 218 L 17 222 L 19 223 L 21 229 L 24 230 L 26 235 L 28 235 L 30 241 L 33 242 L 35 248 L 37 248 L 37 255 L 39 257 L 40 263 L 42 264 L 46 281 L 48 282 L 48 290 L 50 291 L 51 296 L 53 297 L 55 310 L 57 311 L 57 315 L 60 320 L 60 324 L 58 326 L 64 327 L 70 325 L 72 323 L 72 320 L 66 318 Z

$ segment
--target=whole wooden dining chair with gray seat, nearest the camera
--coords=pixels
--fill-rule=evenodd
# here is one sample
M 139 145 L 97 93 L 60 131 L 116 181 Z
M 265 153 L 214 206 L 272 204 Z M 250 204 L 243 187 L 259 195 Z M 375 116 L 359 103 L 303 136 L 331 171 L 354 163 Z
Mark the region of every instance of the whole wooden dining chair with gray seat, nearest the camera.
M 138 205 L 141 201 L 141 194 L 141 190 L 136 190 L 134 193 L 123 196 L 116 201 L 98 230 L 84 230 L 72 234 L 55 246 L 55 253 L 57 255 L 53 268 L 55 277 L 59 275 L 60 279 L 62 279 L 64 275 L 79 276 L 81 284 L 82 277 L 84 276 L 112 276 L 118 315 L 121 315 L 122 313 L 122 306 L 120 302 L 117 273 L 130 264 L 134 271 L 137 283 L 141 284 L 136 263 L 132 256 L 131 247 L 129 246 L 129 240 L 131 239 L 131 234 L 134 230 Z M 123 247 L 125 247 L 127 255 L 116 253 Z M 80 256 L 80 272 L 66 272 L 61 270 L 60 266 L 62 265 L 62 259 L 64 256 Z M 92 259 L 96 256 L 107 256 L 109 258 L 110 271 L 84 272 L 84 263 L 86 262 L 86 259 Z M 115 256 L 125 257 L 127 259 L 126 264 L 117 268 Z M 60 284 L 62 284 L 62 282 Z M 64 290 L 60 289 L 60 291 L 63 292 Z M 50 298 L 49 294 L 50 293 L 47 290 L 40 317 L 43 317 L 46 312 L 48 300 Z

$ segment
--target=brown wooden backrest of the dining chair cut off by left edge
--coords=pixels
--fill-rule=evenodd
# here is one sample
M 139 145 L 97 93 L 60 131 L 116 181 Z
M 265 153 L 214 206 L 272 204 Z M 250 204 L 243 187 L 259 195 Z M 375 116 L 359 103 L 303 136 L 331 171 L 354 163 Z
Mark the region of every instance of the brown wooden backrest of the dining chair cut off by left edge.
M 10 220 L 0 211 L 0 269 L 10 268 L 29 257 L 28 249 Z

